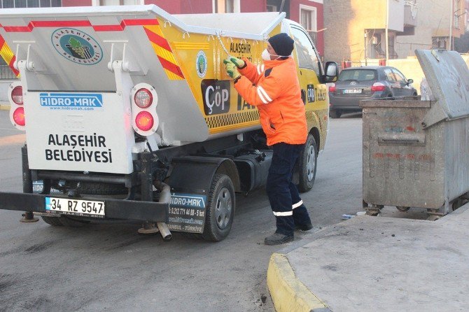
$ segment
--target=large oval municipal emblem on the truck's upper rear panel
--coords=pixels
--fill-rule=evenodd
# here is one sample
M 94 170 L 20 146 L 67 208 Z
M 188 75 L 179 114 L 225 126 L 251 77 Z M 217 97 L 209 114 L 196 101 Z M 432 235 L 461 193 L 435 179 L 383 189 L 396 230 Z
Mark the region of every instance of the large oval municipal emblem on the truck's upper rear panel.
M 73 28 L 59 28 L 52 33 L 52 45 L 62 57 L 82 65 L 94 65 L 103 58 L 103 50 L 92 36 Z

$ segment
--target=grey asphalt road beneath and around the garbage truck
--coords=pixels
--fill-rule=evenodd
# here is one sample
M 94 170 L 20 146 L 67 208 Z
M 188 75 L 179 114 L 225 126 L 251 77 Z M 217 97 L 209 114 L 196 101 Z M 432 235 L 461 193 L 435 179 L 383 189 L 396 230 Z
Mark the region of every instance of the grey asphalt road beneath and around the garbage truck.
M 362 210 L 361 125 L 360 114 L 330 122 L 316 183 L 302 194 L 316 230 Z M 0 111 L 0 191 L 22 190 L 24 141 Z M 391 208 L 383 214 L 424 215 Z M 0 311 L 274 311 L 267 264 L 283 246 L 263 244 L 275 229 L 265 190 L 237 196 L 232 231 L 219 243 L 177 233 L 164 242 L 137 235 L 136 225 L 76 229 L 20 217 L 0 210 Z

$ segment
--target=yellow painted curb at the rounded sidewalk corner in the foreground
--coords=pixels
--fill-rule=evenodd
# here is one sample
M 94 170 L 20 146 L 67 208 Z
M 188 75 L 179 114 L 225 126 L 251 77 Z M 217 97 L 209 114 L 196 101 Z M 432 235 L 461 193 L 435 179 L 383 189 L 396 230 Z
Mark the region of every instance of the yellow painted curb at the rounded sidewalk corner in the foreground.
M 270 257 L 267 288 L 276 312 L 330 311 L 321 299 L 296 278 L 285 255 L 274 253 Z

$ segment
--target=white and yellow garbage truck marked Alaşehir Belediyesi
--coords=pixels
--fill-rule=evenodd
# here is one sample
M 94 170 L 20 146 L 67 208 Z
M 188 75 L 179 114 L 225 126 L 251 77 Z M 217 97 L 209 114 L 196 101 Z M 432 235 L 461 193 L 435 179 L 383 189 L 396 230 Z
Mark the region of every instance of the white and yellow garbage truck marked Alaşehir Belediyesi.
M 10 120 L 26 136 L 23 192 L 0 192 L 0 208 L 25 211 L 23 222 L 124 221 L 167 240 L 225 239 L 235 194 L 265 185 L 272 150 L 223 59 L 247 57 L 262 73 L 261 52 L 279 32 L 295 40 L 309 128 L 295 180 L 302 192 L 313 186 L 337 64 L 323 66 L 285 13 L 22 8 L 2 10 L 0 24 L 0 52 L 19 73 Z

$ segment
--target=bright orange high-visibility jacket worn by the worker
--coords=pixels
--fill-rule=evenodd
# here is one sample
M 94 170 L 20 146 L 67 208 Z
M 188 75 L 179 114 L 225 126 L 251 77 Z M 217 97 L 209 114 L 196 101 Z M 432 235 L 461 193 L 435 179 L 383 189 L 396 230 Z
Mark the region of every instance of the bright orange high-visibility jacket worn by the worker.
M 258 66 L 243 60 L 246 66 L 239 69 L 243 76 L 235 88 L 248 104 L 258 108 L 267 145 L 305 143 L 307 122 L 293 58 L 264 61 Z

